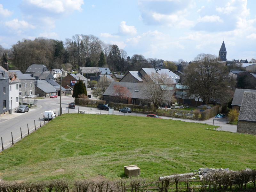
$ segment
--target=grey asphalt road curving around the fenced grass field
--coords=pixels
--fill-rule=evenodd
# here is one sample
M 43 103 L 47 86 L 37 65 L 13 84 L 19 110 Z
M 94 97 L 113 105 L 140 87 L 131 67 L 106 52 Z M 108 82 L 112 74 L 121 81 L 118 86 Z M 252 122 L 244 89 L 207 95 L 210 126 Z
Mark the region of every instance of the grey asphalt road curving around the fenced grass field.
M 90 94 L 90 92 L 88 92 Z M 62 114 L 64 113 L 78 113 L 79 111 L 84 110 L 85 113 L 89 114 L 109 114 L 109 111 L 106 110 L 99 110 L 97 108 L 88 108 L 83 106 L 76 106 L 75 109 L 68 109 L 68 103 L 73 102 L 74 98 L 72 96 L 63 96 L 61 97 L 61 107 L 62 107 Z M 35 131 L 35 124 L 36 129 L 40 127 L 40 120 L 41 119 L 41 125 L 44 124 L 43 121 L 43 114 L 44 111 L 47 110 L 55 110 L 56 116 L 58 115 L 58 110 L 60 108 L 60 98 L 46 98 L 46 99 L 39 99 L 37 102 L 37 107 L 29 109 L 26 113 L 13 113 L 8 114 L 5 116 L 0 117 L 0 137 L 3 138 L 3 145 L 4 149 L 8 148 L 12 145 L 12 136 L 14 143 L 21 139 L 21 133 L 20 128 L 22 132 L 22 136 L 28 135 L 29 133 Z M 141 113 L 120 113 L 117 110 L 114 110 L 114 115 L 129 115 L 129 116 L 147 116 L 147 114 L 141 114 Z M 165 117 L 162 116 L 164 119 L 172 119 L 172 117 Z M 180 120 L 184 121 L 184 119 L 180 118 L 173 118 L 173 120 Z M 216 130 L 222 130 L 222 131 L 229 131 L 229 132 L 236 132 L 236 125 L 229 125 L 227 124 L 228 120 L 227 118 L 211 118 L 206 121 L 200 121 L 200 123 L 206 123 L 206 124 L 213 124 L 218 125 L 219 128 Z M 195 122 L 198 123 L 198 121 L 195 120 L 188 120 L 186 119 L 186 122 Z M 11 135 L 12 132 L 12 135 Z M 0 151 L 2 150 L 2 147 L 0 146 Z

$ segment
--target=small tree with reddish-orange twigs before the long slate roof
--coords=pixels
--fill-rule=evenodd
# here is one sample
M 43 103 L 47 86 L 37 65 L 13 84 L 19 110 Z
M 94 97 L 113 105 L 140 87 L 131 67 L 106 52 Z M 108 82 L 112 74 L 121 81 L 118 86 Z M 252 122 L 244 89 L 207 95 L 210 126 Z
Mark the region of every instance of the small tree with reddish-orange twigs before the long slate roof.
M 113 96 L 117 98 L 119 103 L 126 102 L 128 103 L 131 100 L 132 93 L 124 86 L 114 85 L 113 87 L 114 93 Z

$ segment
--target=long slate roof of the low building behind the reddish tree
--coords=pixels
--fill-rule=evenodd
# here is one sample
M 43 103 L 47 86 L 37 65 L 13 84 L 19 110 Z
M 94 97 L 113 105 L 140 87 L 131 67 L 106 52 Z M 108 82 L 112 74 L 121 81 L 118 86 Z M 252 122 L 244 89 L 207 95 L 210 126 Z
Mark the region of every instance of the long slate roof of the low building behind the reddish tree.
M 131 92 L 131 98 L 136 99 L 147 99 L 145 94 L 143 93 L 143 84 L 142 83 L 129 83 L 129 82 L 117 82 L 113 81 L 107 88 L 107 90 L 104 92 L 103 95 L 114 95 L 114 85 L 121 85 L 123 87 L 126 87 Z M 135 91 L 136 90 L 136 91 Z

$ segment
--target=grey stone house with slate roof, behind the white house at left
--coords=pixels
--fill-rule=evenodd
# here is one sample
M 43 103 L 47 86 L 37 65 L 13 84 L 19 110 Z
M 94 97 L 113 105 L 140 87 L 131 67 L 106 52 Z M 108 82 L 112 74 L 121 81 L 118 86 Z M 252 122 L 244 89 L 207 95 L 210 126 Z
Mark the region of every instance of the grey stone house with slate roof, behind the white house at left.
M 19 97 L 35 97 L 35 84 L 36 79 L 31 74 L 23 74 L 20 70 L 9 70 L 16 72 L 17 77 L 20 79 L 19 84 Z

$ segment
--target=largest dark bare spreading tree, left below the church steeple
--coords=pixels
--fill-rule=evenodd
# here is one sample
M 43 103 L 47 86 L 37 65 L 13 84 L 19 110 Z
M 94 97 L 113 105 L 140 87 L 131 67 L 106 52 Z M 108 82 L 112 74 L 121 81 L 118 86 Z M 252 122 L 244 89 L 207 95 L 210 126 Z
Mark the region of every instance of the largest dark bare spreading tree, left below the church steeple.
M 218 62 L 218 57 L 211 54 L 199 54 L 196 62 L 187 66 L 184 84 L 189 87 L 192 97 L 200 97 L 205 104 L 211 100 L 226 100 L 227 77 L 226 67 Z

